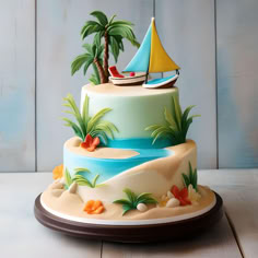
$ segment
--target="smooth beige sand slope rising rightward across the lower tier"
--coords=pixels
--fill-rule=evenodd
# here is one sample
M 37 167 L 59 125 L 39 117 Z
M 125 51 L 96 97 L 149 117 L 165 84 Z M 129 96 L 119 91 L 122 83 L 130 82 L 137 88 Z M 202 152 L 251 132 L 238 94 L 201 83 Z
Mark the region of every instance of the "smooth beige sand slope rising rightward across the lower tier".
M 188 140 L 186 143 L 167 150 L 171 151 L 171 155 L 122 171 L 105 180 L 102 187 L 79 186 L 78 194 L 84 202 L 89 199 L 101 199 L 110 203 L 124 196 L 125 188 L 137 194 L 151 192 L 155 198 L 166 195 L 173 185 L 181 189 L 184 187 L 183 173 L 189 176 L 189 163 L 194 169 L 197 165 L 196 144 Z

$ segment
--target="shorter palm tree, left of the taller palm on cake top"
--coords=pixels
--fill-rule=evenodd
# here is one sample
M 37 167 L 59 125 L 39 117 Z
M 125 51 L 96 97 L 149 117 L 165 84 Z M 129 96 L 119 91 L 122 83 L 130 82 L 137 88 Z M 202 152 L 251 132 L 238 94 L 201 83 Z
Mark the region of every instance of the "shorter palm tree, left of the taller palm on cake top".
M 90 81 L 93 84 L 99 84 L 105 81 L 105 73 L 103 70 L 103 50 L 104 46 L 95 42 L 94 44 L 84 44 L 82 46 L 86 52 L 78 56 L 71 64 L 72 75 L 83 67 L 83 74 L 86 74 L 86 71 L 90 66 L 93 67 L 94 73 L 90 78 Z

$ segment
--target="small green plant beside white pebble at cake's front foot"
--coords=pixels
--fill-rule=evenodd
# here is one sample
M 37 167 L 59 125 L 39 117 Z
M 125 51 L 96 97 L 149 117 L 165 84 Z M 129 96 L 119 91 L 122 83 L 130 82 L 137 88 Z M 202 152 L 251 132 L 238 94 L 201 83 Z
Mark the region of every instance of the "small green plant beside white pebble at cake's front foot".
M 122 215 L 125 215 L 130 210 L 136 210 L 139 203 L 144 203 L 144 204 L 157 203 L 157 201 L 154 198 L 152 198 L 151 194 L 149 192 L 143 192 L 137 196 L 128 188 L 126 188 L 124 192 L 127 195 L 128 199 L 119 199 L 113 202 L 117 204 L 122 204 L 122 210 L 124 210 Z

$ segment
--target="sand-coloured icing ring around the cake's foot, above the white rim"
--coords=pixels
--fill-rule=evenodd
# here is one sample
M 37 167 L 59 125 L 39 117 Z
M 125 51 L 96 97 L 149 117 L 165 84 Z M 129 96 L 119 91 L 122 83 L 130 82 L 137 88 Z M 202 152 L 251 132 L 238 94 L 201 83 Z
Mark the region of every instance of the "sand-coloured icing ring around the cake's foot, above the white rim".
M 190 214 L 194 212 L 198 212 L 204 210 L 208 207 L 212 208 L 212 203 L 214 203 L 215 197 L 213 191 L 203 186 L 198 186 L 200 189 L 201 198 L 198 201 L 198 204 L 188 204 L 188 206 L 160 206 L 160 204 L 148 204 L 146 208 L 141 210 L 138 206 L 138 209 L 130 210 L 122 215 L 122 208 L 119 204 L 115 203 L 104 203 L 101 201 L 103 208 L 102 212 L 91 212 L 89 211 L 87 202 L 83 202 L 78 194 L 70 194 L 66 189 L 54 189 L 51 186 L 44 191 L 42 195 L 42 202 L 44 207 L 49 211 L 57 211 L 58 213 L 62 213 L 66 215 L 70 215 L 71 218 L 84 218 L 84 219 L 99 219 L 99 220 L 153 220 L 153 219 L 163 219 L 163 218 L 173 218 L 183 214 Z M 58 191 L 58 192 L 57 192 Z M 173 200 L 173 199 L 171 199 Z M 161 200 L 159 200 L 161 201 Z M 93 206 L 92 202 L 91 206 Z M 98 207 L 96 203 L 95 207 Z M 160 202 L 159 202 L 160 203 Z M 167 202 L 168 203 L 168 202 Z M 90 206 L 90 207 L 91 207 Z M 87 208 L 85 208 L 87 207 Z M 99 206 L 101 207 L 101 206 Z M 93 211 L 97 210 L 97 208 L 91 208 Z

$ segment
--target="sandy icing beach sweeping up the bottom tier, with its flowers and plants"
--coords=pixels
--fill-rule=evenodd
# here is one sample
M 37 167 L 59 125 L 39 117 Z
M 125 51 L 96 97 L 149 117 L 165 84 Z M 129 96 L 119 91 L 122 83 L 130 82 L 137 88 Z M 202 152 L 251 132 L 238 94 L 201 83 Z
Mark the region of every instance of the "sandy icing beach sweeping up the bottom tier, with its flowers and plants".
M 85 174 L 90 175 L 91 172 L 85 167 L 75 168 L 72 176 L 66 168 L 62 178 L 55 180 L 43 194 L 42 201 L 49 209 L 66 214 L 81 218 L 90 215 L 105 220 L 160 219 L 199 211 L 214 201 L 214 194 L 209 188 L 198 186 L 194 159 L 196 146 L 192 143 L 188 141 L 172 146 L 174 154 L 171 156 L 144 163 L 102 184 L 97 184 L 99 174 L 94 174 L 94 179 L 90 180 Z M 185 162 L 186 159 L 188 164 Z M 174 168 L 169 164 L 173 164 Z M 153 175 L 146 173 L 149 165 L 152 169 L 157 169 Z M 159 186 L 159 180 L 164 177 L 168 184 Z M 151 192 L 140 191 L 141 187 L 146 188 L 144 185 L 141 186 L 146 178 Z M 154 188 L 151 188 L 151 183 L 154 183 Z M 120 191 L 125 185 L 128 187 Z M 116 189 L 113 194 L 120 198 L 113 199 L 110 189 Z M 122 192 L 126 194 L 126 198 Z M 74 203 L 69 203 L 71 200 Z

